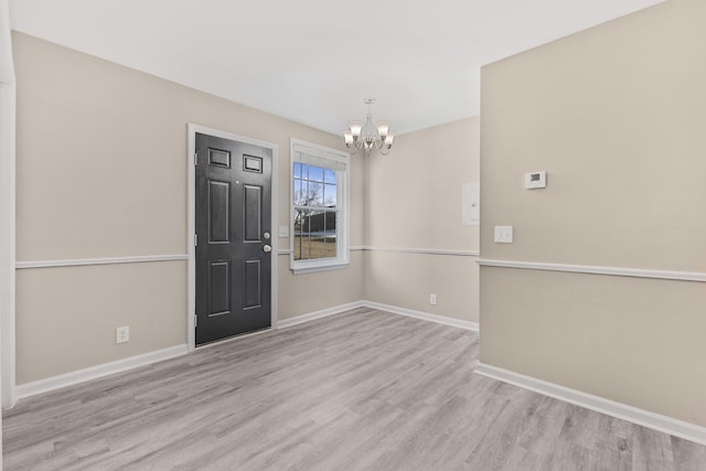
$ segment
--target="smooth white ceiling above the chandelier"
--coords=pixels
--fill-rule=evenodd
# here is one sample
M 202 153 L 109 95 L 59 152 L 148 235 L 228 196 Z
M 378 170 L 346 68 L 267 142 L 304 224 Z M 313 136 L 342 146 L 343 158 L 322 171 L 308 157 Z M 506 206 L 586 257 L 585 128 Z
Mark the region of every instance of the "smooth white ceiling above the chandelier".
M 338 133 L 480 113 L 480 66 L 661 0 L 12 0 L 14 30 Z

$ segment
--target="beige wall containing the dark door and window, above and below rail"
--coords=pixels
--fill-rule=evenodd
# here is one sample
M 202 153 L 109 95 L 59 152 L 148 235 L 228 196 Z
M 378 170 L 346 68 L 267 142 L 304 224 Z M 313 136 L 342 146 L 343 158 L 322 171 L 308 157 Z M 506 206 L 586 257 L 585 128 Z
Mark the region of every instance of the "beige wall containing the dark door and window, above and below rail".
M 18 261 L 186 253 L 186 125 L 279 147 L 289 224 L 289 139 L 341 139 L 28 35 L 18 76 Z M 364 161 L 352 161 L 351 238 L 363 244 Z M 277 239 L 288 248 L 287 239 Z M 279 319 L 363 298 L 363 260 L 298 275 L 279 256 Z M 18 384 L 186 342 L 186 264 L 18 271 Z M 130 325 L 129 344 L 115 329 Z

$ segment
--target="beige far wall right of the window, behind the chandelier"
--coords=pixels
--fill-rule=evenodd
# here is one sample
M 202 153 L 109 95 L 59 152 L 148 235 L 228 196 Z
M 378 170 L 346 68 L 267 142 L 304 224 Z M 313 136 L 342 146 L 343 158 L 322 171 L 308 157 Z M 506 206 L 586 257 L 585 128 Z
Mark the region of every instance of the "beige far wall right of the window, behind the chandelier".
M 414 249 L 478 250 L 478 226 L 461 224 L 461 189 L 479 181 L 479 118 L 404 135 L 389 156 L 368 158 L 367 300 L 478 322 L 475 257 Z

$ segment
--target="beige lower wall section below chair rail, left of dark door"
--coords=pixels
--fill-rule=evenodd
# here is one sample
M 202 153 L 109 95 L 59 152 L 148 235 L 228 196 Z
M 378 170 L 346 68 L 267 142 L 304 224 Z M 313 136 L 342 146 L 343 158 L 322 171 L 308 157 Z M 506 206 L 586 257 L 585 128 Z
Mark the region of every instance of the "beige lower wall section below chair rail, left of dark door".
M 185 261 L 23 269 L 17 286 L 18 384 L 186 342 Z

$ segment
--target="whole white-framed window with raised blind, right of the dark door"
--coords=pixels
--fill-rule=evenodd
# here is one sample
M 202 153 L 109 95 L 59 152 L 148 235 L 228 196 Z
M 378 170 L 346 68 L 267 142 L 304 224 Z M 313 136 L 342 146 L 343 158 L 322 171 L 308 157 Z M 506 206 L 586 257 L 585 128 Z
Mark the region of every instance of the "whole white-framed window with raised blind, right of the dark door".
M 291 269 L 349 264 L 349 154 L 291 140 Z

